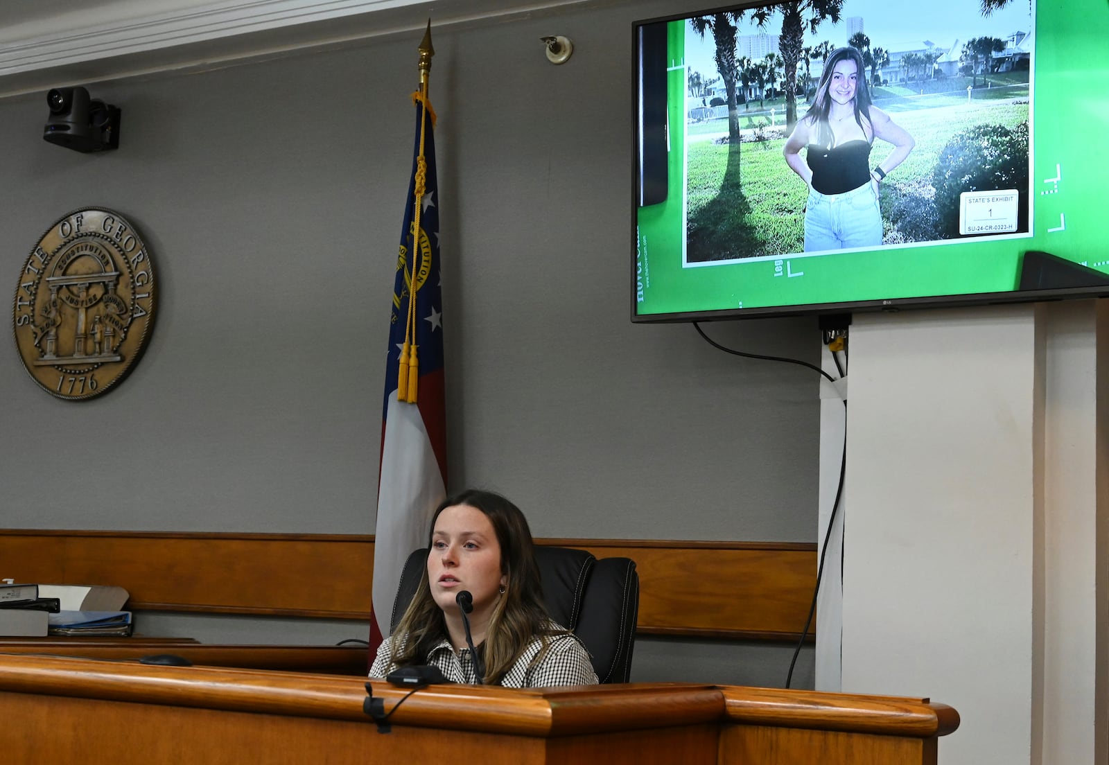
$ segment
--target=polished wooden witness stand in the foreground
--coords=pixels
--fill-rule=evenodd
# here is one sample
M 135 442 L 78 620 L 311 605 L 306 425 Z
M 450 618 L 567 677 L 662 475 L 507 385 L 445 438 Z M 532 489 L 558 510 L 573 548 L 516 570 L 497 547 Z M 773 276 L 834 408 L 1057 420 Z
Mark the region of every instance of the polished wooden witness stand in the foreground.
M 197 659 L 210 647 L 211 657 L 224 651 L 230 660 L 235 646 L 159 647 L 196 651 Z M 40 653 L 47 650 L 82 649 L 0 646 L 6 762 L 83 764 L 99 753 L 113 765 L 365 765 L 449 753 L 459 762 L 506 765 L 932 765 L 937 737 L 958 727 L 955 710 L 922 698 L 684 683 L 436 685 L 396 708 L 391 732 L 383 734 L 363 712 L 364 677 Z M 316 651 L 291 650 L 302 660 Z M 258 663 L 267 661 L 292 660 L 273 654 Z M 407 693 L 383 681 L 372 688 L 386 711 Z

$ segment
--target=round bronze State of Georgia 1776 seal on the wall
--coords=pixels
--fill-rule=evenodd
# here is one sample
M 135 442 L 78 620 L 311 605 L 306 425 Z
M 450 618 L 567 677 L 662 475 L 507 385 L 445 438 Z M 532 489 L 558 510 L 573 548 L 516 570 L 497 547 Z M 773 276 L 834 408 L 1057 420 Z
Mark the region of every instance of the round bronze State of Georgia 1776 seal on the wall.
M 139 232 L 111 210 L 58 221 L 20 272 L 14 320 L 20 358 L 43 390 L 84 399 L 111 389 L 153 327 L 154 267 Z

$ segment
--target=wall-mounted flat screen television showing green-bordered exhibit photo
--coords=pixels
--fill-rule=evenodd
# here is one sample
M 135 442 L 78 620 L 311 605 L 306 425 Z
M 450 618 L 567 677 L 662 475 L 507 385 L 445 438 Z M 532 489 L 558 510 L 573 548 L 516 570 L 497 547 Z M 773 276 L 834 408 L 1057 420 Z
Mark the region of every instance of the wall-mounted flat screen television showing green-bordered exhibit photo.
M 1107 41 L 1106 0 L 762 0 L 635 22 L 632 319 L 1109 295 Z M 854 120 L 864 172 L 894 151 L 889 124 L 914 145 L 876 184 L 881 235 L 806 251 L 820 205 L 783 149 L 848 45 L 856 100 L 889 120 Z M 808 166 L 837 144 L 806 124 Z

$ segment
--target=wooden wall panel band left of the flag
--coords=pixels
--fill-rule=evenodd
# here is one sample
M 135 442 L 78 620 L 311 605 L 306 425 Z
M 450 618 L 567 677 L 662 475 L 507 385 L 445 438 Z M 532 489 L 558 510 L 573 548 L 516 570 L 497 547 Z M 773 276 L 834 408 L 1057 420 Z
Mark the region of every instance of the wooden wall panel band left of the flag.
M 372 537 L 6 531 L 0 578 L 115 584 L 134 611 L 368 619 Z

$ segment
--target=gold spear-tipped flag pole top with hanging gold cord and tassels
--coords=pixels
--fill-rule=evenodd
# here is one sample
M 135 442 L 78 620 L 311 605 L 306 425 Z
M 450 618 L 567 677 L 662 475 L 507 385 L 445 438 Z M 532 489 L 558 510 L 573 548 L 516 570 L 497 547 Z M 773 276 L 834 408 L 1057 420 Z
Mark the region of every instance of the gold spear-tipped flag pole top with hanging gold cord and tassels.
M 420 212 L 423 210 L 424 193 L 427 190 L 427 160 L 424 157 L 424 139 L 427 132 L 427 115 L 431 112 L 431 122 L 435 124 L 435 112 L 431 111 L 431 102 L 428 99 L 428 81 L 431 72 L 431 57 L 435 55 L 435 48 L 431 45 L 431 20 L 427 20 L 427 29 L 424 30 L 424 39 L 419 43 L 419 90 L 413 93 L 413 102 L 421 106 L 420 110 L 420 135 L 419 152 L 416 159 L 416 183 L 413 198 L 413 230 L 409 232 L 411 246 L 408 253 L 411 256 L 410 267 L 406 268 L 408 280 L 408 315 L 405 325 L 405 344 L 400 348 L 400 368 L 397 376 L 397 398 L 408 404 L 416 404 L 419 386 L 419 359 L 416 354 L 416 292 L 419 288 L 417 282 L 417 263 L 421 256 L 420 252 Z

